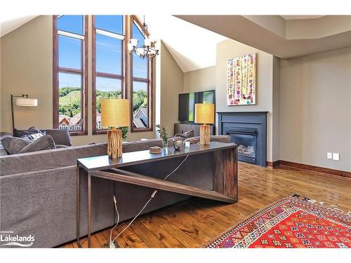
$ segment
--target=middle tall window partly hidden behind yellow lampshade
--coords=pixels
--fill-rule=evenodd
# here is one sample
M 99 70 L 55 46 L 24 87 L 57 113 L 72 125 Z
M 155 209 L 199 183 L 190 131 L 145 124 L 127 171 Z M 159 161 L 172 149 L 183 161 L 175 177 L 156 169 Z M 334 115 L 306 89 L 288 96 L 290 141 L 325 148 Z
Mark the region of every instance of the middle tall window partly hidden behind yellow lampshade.
M 100 101 L 124 97 L 124 15 L 93 15 L 93 134 L 101 127 Z

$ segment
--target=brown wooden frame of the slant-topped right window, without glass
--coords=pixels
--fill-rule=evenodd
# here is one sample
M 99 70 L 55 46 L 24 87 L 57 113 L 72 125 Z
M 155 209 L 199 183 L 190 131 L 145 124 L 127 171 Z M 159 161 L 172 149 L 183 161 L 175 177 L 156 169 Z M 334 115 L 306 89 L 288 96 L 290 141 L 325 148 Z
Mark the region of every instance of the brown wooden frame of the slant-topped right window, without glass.
M 131 15 L 131 25 L 130 25 L 130 35 L 133 37 L 133 24 L 143 31 L 143 33 L 148 37 L 150 34 L 144 30 L 143 23 L 135 16 Z M 133 54 L 130 55 L 131 58 L 131 133 L 143 133 L 150 132 L 154 130 L 154 62 L 153 60 L 147 60 L 147 79 L 138 78 L 133 76 Z M 148 107 L 148 128 L 134 128 L 133 127 L 133 82 L 143 82 L 147 83 L 147 107 Z

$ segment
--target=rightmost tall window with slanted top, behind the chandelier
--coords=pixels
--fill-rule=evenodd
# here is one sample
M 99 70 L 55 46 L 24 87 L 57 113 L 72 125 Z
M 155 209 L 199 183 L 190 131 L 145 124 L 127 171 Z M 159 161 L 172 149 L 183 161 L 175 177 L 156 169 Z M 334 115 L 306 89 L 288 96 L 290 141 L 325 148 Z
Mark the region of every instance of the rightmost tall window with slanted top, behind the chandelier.
M 143 45 L 147 32 L 140 21 L 132 16 L 131 38 Z M 131 58 L 131 132 L 150 131 L 153 128 L 152 60 L 133 54 Z

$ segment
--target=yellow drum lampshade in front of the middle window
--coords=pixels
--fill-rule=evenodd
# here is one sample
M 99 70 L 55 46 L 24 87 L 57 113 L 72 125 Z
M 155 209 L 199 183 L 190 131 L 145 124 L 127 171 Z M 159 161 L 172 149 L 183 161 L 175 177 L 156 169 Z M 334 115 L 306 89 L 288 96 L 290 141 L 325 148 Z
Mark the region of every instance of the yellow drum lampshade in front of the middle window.
M 130 105 L 125 99 L 101 100 L 101 126 L 126 127 L 130 125 Z

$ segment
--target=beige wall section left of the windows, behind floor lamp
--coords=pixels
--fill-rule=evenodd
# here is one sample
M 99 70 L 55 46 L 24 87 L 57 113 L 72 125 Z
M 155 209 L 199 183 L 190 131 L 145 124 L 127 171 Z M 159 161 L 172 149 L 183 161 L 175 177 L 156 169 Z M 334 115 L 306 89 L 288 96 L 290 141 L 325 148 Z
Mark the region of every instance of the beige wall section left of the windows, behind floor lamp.
M 38 107 L 15 107 L 18 128 L 51 128 L 53 112 L 53 24 L 39 16 L 1 37 L 1 130 L 11 132 L 10 95 L 37 97 Z

